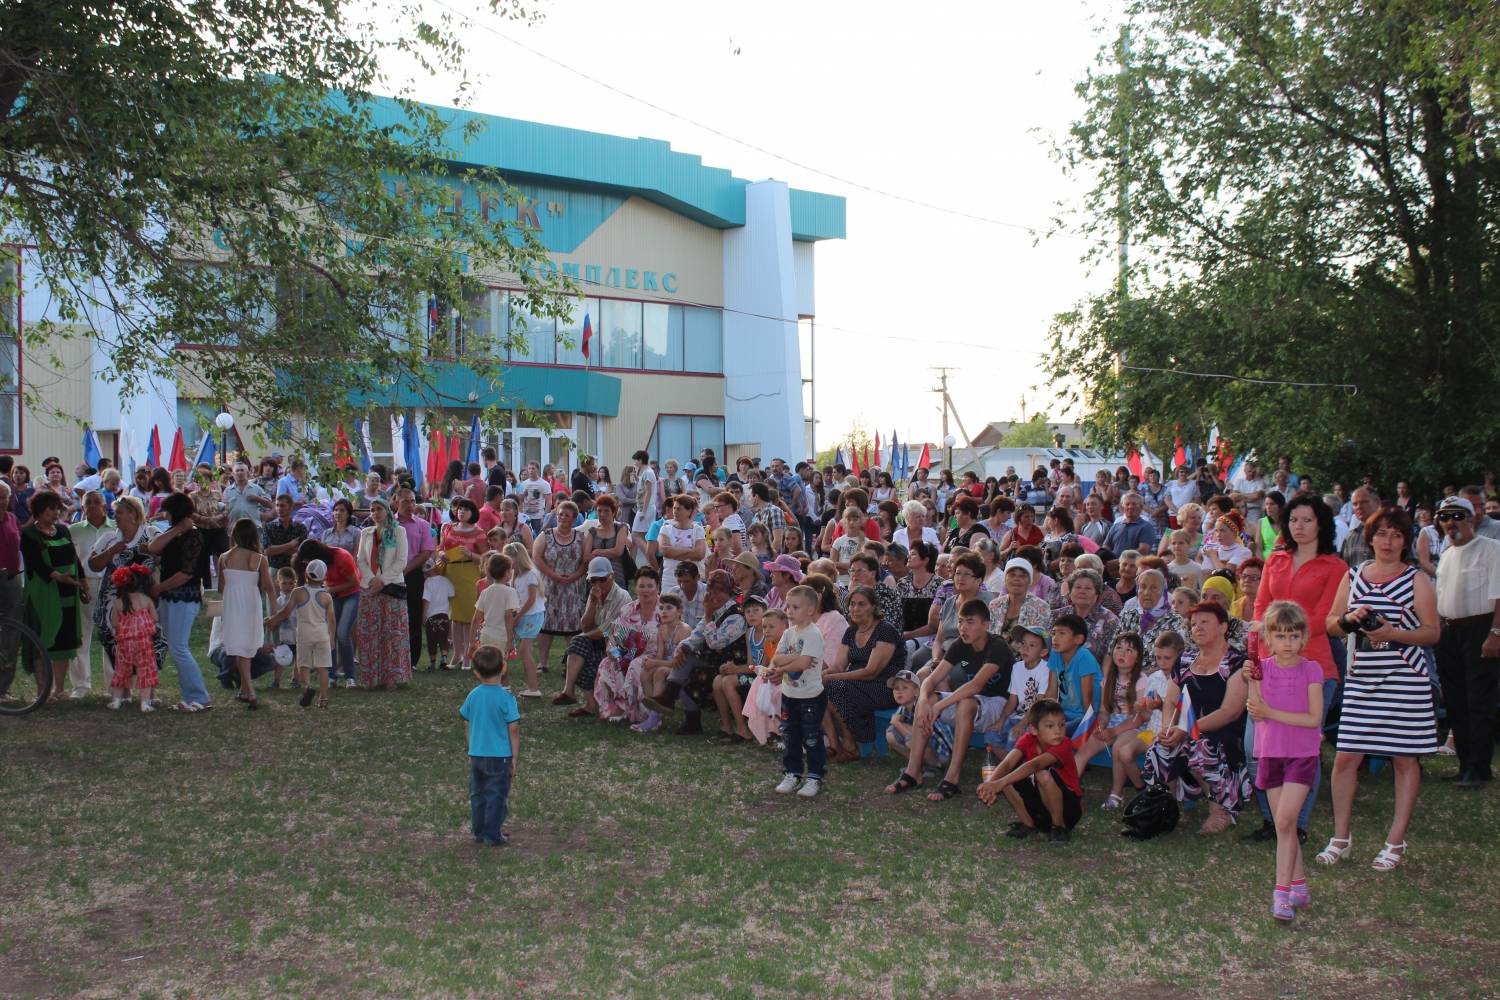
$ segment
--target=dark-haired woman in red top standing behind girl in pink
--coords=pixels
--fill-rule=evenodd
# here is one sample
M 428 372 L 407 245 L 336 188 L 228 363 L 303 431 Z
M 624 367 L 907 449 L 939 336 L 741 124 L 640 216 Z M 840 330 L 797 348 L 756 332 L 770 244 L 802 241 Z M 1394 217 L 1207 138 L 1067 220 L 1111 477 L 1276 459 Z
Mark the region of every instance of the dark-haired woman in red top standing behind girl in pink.
M 1320 622 L 1328 622 L 1328 615 L 1338 597 L 1338 588 L 1344 582 L 1348 567 L 1338 558 L 1334 547 L 1334 511 L 1317 496 L 1294 496 L 1281 508 L 1281 538 L 1275 552 L 1266 559 L 1266 568 L 1260 574 L 1260 591 L 1256 594 L 1256 636 L 1251 637 L 1251 658 L 1258 657 L 1258 628 L 1266 616 L 1266 609 L 1272 601 L 1294 601 L 1306 612 L 1308 621 L 1314 622 L 1312 634 L 1308 637 L 1306 649 L 1302 651 L 1308 660 L 1317 661 L 1323 667 L 1323 715 L 1328 717 L 1328 706 L 1338 690 L 1338 663 L 1334 660 L 1334 646 L 1328 639 L 1328 628 L 1320 628 Z M 1245 726 L 1245 751 L 1251 762 L 1251 777 L 1254 778 L 1254 727 Z M 1306 834 L 1308 817 L 1312 814 L 1312 804 L 1317 801 L 1318 784 L 1322 784 L 1323 769 L 1312 777 L 1312 787 L 1308 799 L 1298 816 L 1298 832 Z M 1251 834 L 1254 840 L 1275 840 L 1276 828 L 1270 822 L 1270 810 L 1264 801 L 1264 793 L 1257 792 L 1260 814 L 1264 820 L 1262 828 Z

